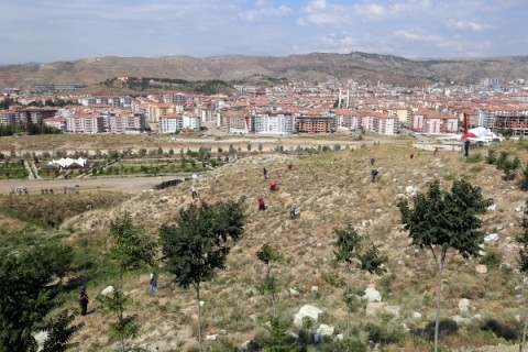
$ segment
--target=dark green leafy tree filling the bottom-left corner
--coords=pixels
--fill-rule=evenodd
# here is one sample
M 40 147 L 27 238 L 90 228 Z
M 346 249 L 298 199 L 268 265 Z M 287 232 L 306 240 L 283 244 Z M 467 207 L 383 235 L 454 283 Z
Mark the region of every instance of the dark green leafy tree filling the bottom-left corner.
M 0 351 L 36 351 L 33 333 L 51 332 L 50 351 L 68 349 L 72 334 L 80 326 L 69 327 L 74 319 L 62 312 L 56 320 L 48 315 L 63 301 L 57 277 L 72 264 L 57 261 L 57 246 L 31 246 L 0 256 Z M 72 251 L 69 249 L 69 251 Z M 64 349 L 61 350 L 59 346 Z

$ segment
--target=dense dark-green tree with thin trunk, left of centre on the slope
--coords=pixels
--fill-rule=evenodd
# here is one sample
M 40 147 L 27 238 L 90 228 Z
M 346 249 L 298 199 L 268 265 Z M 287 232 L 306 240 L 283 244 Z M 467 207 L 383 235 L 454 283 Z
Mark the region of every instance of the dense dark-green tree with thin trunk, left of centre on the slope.
M 229 240 L 238 241 L 245 223 L 243 198 L 239 201 L 205 201 L 182 209 L 176 224 L 164 223 L 160 228 L 166 270 L 180 287 L 193 286 L 198 307 L 198 343 L 202 351 L 200 287 L 226 268 Z

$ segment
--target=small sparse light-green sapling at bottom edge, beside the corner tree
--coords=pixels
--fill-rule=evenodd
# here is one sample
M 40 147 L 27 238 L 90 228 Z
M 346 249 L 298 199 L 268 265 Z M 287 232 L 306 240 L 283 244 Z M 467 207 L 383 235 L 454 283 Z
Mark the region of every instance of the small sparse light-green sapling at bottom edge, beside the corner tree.
M 114 314 L 116 321 L 110 322 L 110 336 L 119 340 L 121 351 L 127 350 L 127 342 L 140 334 L 140 324 L 136 316 L 125 316 L 124 310 L 129 302 L 129 296 L 117 289 L 111 296 L 99 295 L 96 298 L 105 307 L 105 310 Z

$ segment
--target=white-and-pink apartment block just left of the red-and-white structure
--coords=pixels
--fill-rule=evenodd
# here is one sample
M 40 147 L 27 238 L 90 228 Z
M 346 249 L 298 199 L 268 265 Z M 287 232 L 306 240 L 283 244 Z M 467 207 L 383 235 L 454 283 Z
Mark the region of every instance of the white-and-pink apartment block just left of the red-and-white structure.
M 457 133 L 459 118 L 435 111 L 413 112 L 409 117 L 409 129 L 430 134 Z

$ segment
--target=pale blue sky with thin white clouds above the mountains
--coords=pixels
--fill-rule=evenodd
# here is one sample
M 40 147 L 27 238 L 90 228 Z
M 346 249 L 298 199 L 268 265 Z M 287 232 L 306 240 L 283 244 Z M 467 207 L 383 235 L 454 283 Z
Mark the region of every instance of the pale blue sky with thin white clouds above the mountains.
M 2 0 L 0 64 L 365 52 L 528 55 L 527 0 Z

